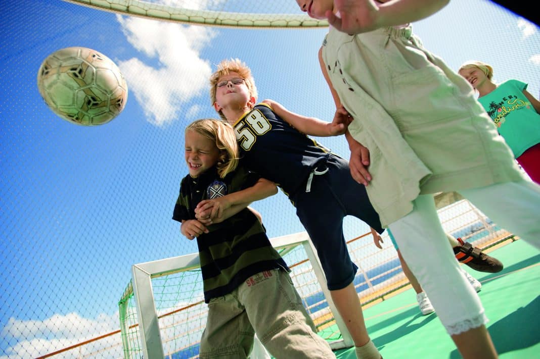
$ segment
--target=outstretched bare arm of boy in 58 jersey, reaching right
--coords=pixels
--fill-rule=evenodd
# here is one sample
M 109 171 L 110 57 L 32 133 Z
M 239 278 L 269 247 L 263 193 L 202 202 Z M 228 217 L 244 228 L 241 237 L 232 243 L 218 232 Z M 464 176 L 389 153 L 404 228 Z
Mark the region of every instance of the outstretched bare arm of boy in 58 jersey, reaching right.
M 264 100 L 262 102 L 270 105 L 272 111 L 280 116 L 280 118 L 306 135 L 319 137 L 342 135 L 345 133 L 350 122 L 349 113 L 345 108 L 338 108 L 332 122 L 326 122 L 314 117 L 302 116 L 291 112 L 274 100 Z

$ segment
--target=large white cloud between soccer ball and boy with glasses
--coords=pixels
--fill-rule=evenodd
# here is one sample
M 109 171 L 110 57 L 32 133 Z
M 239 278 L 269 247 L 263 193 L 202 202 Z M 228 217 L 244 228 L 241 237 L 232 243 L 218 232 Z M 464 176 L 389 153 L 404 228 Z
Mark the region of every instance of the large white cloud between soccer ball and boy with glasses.
M 186 103 L 206 96 L 212 68 L 200 51 L 211 44 L 215 30 L 139 17 L 118 15 L 117 19 L 129 43 L 157 63 L 152 66 L 140 58 L 118 61 L 130 95 L 149 122 L 157 126 L 170 123 L 181 115 Z

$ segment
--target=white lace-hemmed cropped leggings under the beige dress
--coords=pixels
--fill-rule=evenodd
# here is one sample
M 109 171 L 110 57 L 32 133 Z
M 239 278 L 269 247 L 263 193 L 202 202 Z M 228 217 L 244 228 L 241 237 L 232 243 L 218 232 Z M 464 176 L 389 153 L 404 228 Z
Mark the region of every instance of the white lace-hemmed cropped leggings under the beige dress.
M 505 182 L 460 190 L 497 225 L 540 250 L 540 186 Z M 437 216 L 433 195 L 421 195 L 407 216 L 389 225 L 401 254 L 450 335 L 488 319 L 477 293 L 458 271 L 458 262 Z

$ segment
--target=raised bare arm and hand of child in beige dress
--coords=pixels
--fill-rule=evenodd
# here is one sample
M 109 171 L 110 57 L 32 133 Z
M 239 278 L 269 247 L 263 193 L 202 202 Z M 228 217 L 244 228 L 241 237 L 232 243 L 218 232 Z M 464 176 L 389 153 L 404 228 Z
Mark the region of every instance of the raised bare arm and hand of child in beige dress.
M 328 23 L 347 33 L 362 33 L 379 27 L 415 22 L 433 15 L 450 0 L 334 0 L 337 17 L 326 12 Z

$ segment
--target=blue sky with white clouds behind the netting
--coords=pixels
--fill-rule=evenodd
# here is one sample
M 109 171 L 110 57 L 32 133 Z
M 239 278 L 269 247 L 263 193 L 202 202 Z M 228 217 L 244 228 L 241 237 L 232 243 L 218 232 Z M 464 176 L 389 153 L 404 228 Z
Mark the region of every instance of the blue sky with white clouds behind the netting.
M 259 100 L 332 119 L 316 58 L 326 29 L 186 26 L 60 0 L 4 0 L 0 10 L 0 357 L 118 329 L 131 265 L 197 251 L 171 215 L 187 173 L 183 129 L 216 116 L 207 79 L 221 59 L 246 61 Z M 489 1 L 453 0 L 413 29 L 450 67 L 483 60 L 495 81 L 528 82 L 538 97 L 538 26 Z M 69 46 L 106 54 L 126 77 L 126 107 L 106 125 L 66 122 L 39 96 L 39 65 Z M 320 141 L 348 157 L 343 137 Z M 254 207 L 269 237 L 303 231 L 281 193 Z M 353 238 L 367 227 L 347 219 L 345 229 Z

